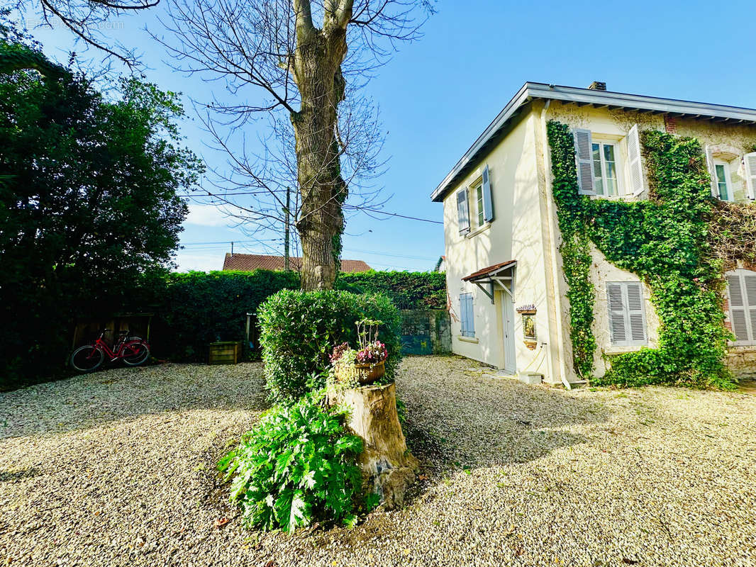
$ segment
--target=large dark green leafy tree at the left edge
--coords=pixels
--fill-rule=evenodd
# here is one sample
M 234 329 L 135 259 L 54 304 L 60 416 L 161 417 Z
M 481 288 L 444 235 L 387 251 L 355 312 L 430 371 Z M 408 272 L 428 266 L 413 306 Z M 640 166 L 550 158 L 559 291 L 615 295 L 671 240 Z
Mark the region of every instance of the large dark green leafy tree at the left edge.
M 0 54 L 19 50 L 44 60 L 3 28 Z M 172 262 L 177 192 L 202 171 L 179 145 L 182 114 L 178 95 L 136 79 L 108 100 L 74 73 L 0 72 L 0 388 L 59 371 L 93 297 Z

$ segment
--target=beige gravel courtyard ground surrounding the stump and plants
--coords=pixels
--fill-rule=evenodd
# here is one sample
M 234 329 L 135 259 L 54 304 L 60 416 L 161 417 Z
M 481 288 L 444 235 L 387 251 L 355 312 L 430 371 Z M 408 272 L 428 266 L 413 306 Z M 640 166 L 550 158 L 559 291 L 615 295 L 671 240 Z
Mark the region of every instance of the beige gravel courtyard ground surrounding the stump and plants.
M 756 565 L 754 395 L 564 392 L 407 358 L 423 462 L 407 507 L 289 536 L 244 531 L 212 472 L 265 409 L 261 370 L 167 364 L 0 394 L 0 564 Z

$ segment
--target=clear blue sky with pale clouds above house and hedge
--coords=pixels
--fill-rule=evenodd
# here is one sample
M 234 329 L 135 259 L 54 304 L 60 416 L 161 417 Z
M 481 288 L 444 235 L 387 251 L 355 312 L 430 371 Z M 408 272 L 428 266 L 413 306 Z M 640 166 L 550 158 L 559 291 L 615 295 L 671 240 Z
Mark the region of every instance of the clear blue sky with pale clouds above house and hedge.
M 599 80 L 612 91 L 756 107 L 751 3 L 729 2 L 724 11 L 697 0 L 440 0 L 437 8 L 423 39 L 402 46 L 367 87 L 387 132 L 389 169 L 380 184 L 393 195 L 385 207 L 390 212 L 440 221 L 442 206 L 430 202 L 430 192 L 528 80 L 572 86 Z M 139 48 L 150 81 L 209 99 L 215 85 L 163 64 L 167 54 L 142 31 L 145 25 L 159 31 L 154 15 L 124 17 L 115 26 L 120 29 L 108 33 Z M 69 33 L 33 33 L 49 55 L 67 58 Z M 182 131 L 187 145 L 209 163 L 221 163 L 203 145 L 197 121 L 187 119 Z M 178 268 L 221 268 L 230 245 L 218 241 L 237 241 L 237 252 L 272 253 L 234 225 L 218 209 L 193 205 Z M 346 227 L 343 257 L 376 269 L 427 270 L 443 249 L 442 225 L 358 213 Z

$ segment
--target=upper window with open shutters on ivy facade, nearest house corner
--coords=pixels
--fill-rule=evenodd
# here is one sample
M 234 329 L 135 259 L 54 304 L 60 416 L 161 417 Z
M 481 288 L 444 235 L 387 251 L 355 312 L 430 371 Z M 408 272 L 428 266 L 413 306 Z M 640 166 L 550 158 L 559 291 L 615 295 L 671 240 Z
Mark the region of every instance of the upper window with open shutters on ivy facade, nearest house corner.
M 643 160 L 637 124 L 627 132 L 627 136 L 621 142 L 594 140 L 590 130 L 581 128 L 576 128 L 572 135 L 575 138 L 579 194 L 615 197 L 623 194 L 637 196 L 643 193 Z M 627 150 L 625 170 L 619 163 L 621 143 Z M 624 171 L 626 175 L 623 175 Z M 625 191 L 623 178 L 627 181 Z

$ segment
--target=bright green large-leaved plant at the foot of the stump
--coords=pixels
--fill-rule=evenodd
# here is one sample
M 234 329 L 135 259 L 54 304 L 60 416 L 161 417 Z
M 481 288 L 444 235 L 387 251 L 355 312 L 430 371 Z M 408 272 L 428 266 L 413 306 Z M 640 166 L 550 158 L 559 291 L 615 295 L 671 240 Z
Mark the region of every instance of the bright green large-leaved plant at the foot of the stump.
M 218 469 L 246 525 L 294 531 L 314 520 L 352 525 L 362 477 L 362 440 L 343 426 L 344 412 L 325 409 L 322 393 L 277 406 L 246 433 Z

